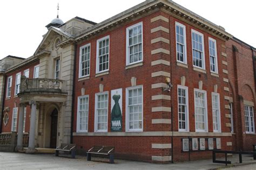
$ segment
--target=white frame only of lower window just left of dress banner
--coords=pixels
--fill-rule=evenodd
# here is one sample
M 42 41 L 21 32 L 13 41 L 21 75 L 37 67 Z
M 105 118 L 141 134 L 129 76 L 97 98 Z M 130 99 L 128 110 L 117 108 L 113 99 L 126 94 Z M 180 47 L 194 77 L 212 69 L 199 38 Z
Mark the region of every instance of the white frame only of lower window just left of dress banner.
M 105 95 L 107 94 L 107 129 L 104 130 L 98 130 L 98 113 L 97 113 L 97 107 L 98 107 L 98 96 L 99 95 Z M 94 123 L 94 130 L 95 132 L 107 132 L 109 126 L 109 91 L 104 91 L 103 93 L 96 93 L 95 94 L 95 123 Z

